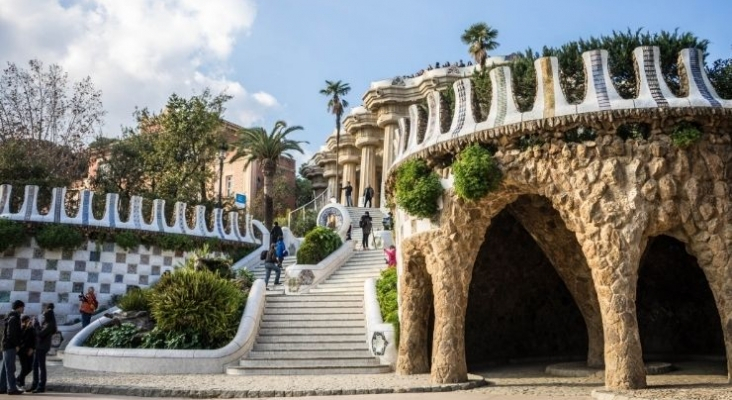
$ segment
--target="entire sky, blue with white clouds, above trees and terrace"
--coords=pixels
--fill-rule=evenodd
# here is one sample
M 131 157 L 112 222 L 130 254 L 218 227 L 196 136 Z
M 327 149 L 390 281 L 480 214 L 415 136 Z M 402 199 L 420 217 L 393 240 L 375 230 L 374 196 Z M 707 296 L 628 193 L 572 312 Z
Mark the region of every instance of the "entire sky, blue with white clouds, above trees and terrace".
M 302 160 L 334 126 L 318 93 L 326 79 L 350 83 L 359 105 L 371 81 L 467 61 L 460 35 L 475 22 L 498 29 L 495 55 L 643 27 L 709 39 L 714 60 L 732 57 L 731 16 L 723 0 L 0 0 L 0 61 L 90 75 L 109 112 L 105 136 L 174 91 L 226 90 L 235 123 L 302 125 Z

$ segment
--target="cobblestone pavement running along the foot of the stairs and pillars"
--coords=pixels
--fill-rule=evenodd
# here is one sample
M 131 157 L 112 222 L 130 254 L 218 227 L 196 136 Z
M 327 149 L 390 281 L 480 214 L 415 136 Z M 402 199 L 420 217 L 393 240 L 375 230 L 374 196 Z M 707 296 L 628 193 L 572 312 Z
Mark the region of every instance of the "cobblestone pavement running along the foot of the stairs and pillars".
M 488 384 L 434 398 L 469 399 L 562 399 L 590 400 L 732 400 L 724 363 L 675 363 L 678 370 L 648 376 L 649 388 L 622 393 L 604 392 L 598 377 L 552 377 L 544 364 L 509 365 L 472 371 Z M 478 378 L 478 377 L 475 377 Z M 472 386 L 479 380 L 474 379 Z M 397 393 L 379 398 L 407 398 L 404 392 L 452 391 L 461 388 L 433 385 L 429 375 L 327 375 L 327 376 L 228 376 L 228 375 L 134 375 L 80 371 L 49 366 L 48 386 L 53 391 L 131 395 L 145 397 L 296 397 Z M 453 396 L 457 395 L 457 396 Z M 626 396 L 626 397 L 620 397 Z M 357 396 L 359 398 L 361 396 Z M 409 395 L 410 398 L 417 398 Z M 111 397 L 105 397 L 111 398 Z M 354 398 L 354 399 L 356 399 Z M 365 397 L 364 397 L 365 398 Z

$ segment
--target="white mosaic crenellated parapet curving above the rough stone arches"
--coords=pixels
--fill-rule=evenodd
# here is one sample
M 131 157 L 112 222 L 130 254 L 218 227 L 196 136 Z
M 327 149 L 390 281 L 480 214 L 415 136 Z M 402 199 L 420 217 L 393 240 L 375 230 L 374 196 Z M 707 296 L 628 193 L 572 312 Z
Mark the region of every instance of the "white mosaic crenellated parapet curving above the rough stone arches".
M 472 82 L 469 78 L 453 84 L 455 109 L 443 110 L 439 93 L 427 96 L 429 107 L 427 129 L 424 140 L 419 140 L 422 116 L 418 107 L 409 108 L 409 118 L 399 121 L 399 146 L 394 156 L 395 164 L 411 154 L 477 131 L 508 126 L 517 123 L 539 121 L 546 118 L 579 115 L 608 110 L 630 110 L 649 108 L 732 108 L 732 100 L 719 97 L 706 75 L 702 54 L 698 49 L 685 49 L 679 54 L 679 73 L 687 95 L 675 96 L 666 84 L 660 63 L 658 47 L 638 47 L 633 52 L 636 64 L 638 95 L 634 99 L 622 98 L 613 84 L 608 68 L 606 50 L 592 50 L 582 54 L 586 76 L 585 98 L 579 104 L 570 104 L 560 85 L 560 70 L 556 57 L 543 57 L 534 62 L 537 91 L 530 111 L 520 112 L 514 101 L 511 69 L 498 66 L 490 71 L 492 83 L 491 106 L 487 118 L 476 123 L 472 109 Z M 441 132 L 440 115 L 452 113 L 452 125 L 447 132 Z M 490 137 L 499 135 L 489 131 Z

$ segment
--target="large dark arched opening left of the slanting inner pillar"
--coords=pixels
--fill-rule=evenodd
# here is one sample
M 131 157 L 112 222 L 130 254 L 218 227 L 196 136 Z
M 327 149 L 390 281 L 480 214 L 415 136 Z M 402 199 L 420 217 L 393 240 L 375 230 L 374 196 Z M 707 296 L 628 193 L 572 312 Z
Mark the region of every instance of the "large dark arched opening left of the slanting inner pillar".
M 582 360 L 582 315 L 549 259 L 506 209 L 485 234 L 470 284 L 469 368 L 520 359 Z

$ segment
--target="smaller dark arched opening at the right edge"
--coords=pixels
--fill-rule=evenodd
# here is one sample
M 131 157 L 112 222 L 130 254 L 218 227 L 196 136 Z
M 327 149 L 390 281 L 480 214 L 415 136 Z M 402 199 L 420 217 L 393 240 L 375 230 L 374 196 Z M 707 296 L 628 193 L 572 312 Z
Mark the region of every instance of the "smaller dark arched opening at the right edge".
M 638 331 L 646 361 L 725 358 L 714 296 L 696 258 L 669 236 L 649 240 L 638 271 Z

